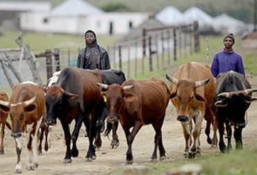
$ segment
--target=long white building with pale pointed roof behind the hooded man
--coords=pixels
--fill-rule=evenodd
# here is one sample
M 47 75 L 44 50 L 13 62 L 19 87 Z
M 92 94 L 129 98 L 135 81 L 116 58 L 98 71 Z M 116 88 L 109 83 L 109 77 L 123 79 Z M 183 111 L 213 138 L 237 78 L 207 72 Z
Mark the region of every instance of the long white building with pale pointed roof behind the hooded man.
M 21 28 L 28 31 L 83 34 L 92 28 L 97 35 L 126 34 L 148 18 L 140 12 L 103 12 L 83 0 L 67 0 L 51 12 L 21 14 Z

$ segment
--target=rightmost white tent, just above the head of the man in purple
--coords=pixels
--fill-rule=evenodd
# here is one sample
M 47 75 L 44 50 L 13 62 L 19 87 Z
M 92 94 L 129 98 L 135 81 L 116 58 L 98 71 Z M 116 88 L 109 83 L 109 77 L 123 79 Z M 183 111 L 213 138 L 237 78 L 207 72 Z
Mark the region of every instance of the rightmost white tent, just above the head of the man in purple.
M 234 35 L 240 35 L 244 28 L 246 28 L 244 22 L 226 15 L 226 13 L 222 13 L 222 15 L 215 17 L 213 19 L 213 26 L 215 30 L 233 33 Z

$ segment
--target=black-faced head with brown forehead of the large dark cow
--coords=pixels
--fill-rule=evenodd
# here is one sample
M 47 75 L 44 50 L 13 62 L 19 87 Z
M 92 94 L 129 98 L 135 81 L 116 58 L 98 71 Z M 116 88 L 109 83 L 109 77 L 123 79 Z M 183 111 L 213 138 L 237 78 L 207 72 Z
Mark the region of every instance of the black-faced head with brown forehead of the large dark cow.
M 63 88 L 59 85 L 52 85 L 47 88 L 45 95 L 46 105 L 47 105 L 47 125 L 56 124 L 56 119 L 60 115 L 60 110 L 63 103 L 67 102 L 69 99 L 77 99 L 78 95 L 65 92 Z M 61 117 L 61 116 L 60 116 Z

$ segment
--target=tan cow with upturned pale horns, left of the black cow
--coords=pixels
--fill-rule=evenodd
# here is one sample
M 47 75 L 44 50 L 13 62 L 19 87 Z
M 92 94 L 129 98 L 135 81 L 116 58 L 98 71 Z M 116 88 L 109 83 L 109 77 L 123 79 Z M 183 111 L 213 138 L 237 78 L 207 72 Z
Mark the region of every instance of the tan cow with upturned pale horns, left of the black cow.
M 166 78 L 171 82 L 169 89 L 172 103 L 183 128 L 184 156 L 192 158 L 196 153 L 200 153 L 201 123 L 204 117 L 210 118 L 205 115 L 213 115 L 211 111 L 215 80 L 208 65 L 195 62 L 181 65 L 174 77 L 166 74 Z

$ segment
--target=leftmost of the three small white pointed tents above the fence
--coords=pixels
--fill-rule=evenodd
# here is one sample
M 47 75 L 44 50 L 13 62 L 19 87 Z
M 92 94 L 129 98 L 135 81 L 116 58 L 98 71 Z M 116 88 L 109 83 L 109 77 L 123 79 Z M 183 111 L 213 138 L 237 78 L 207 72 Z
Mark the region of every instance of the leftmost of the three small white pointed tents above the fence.
M 183 16 L 177 8 L 168 6 L 156 14 L 156 19 L 166 25 L 178 26 L 183 21 Z

